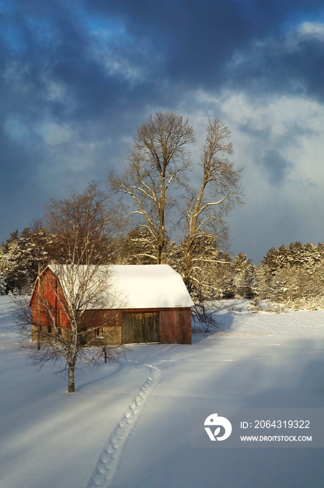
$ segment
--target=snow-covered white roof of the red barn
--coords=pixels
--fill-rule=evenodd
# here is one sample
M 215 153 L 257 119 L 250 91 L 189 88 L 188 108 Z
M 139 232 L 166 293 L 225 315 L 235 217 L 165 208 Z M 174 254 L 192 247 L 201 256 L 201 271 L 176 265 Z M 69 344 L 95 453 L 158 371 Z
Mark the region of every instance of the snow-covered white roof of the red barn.
M 68 267 L 59 266 L 58 269 L 51 264 L 49 268 L 55 274 L 61 271 L 59 280 L 65 295 L 68 295 L 66 292 L 69 283 L 65 284 L 65 273 L 62 273 L 63 268 L 67 270 Z M 85 266 L 79 268 L 77 274 L 84 276 Z M 194 305 L 183 279 L 168 264 L 99 266 L 98 273 L 94 276 L 96 281 L 107 282 L 105 287 L 107 308 L 150 309 Z M 75 288 L 77 289 L 77 286 Z

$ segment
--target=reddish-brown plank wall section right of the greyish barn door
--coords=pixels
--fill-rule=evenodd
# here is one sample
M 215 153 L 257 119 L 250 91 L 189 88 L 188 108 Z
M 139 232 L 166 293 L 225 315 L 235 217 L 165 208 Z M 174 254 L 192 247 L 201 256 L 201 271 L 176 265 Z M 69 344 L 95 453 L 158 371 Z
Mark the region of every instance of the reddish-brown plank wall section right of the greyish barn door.
M 160 344 L 191 344 L 191 309 L 160 310 Z

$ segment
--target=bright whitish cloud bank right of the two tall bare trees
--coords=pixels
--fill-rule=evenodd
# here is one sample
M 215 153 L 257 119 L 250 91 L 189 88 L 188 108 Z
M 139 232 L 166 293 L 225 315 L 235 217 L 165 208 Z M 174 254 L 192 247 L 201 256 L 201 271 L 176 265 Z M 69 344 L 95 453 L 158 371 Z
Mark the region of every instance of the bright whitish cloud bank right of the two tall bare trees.
M 187 115 L 201 141 L 208 116 L 224 120 L 231 129 L 232 160 L 244 167 L 247 204 L 229 218 L 233 252 L 257 263 L 272 245 L 323 241 L 323 107 L 310 98 L 257 98 L 229 90 L 218 97 L 197 91 L 190 99 Z M 267 159 L 269 154 L 277 161 Z M 276 171 L 279 182 L 271 178 Z

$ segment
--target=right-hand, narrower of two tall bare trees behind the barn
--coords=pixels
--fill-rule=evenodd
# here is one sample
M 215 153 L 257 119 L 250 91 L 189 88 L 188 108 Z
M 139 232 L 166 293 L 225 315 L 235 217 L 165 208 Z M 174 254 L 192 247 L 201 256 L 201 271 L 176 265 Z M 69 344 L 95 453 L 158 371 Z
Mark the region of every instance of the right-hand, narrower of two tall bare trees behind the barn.
M 227 158 L 227 155 L 233 153 L 230 135 L 231 132 L 224 122 L 219 119 L 208 121 L 206 142 L 199 162 L 200 186 L 187 185 L 182 274 L 189 291 L 197 285 L 201 288 L 202 282 L 208 286 L 210 266 L 202 266 L 203 264 L 223 262 L 218 257 L 219 251 L 215 243 L 226 239 L 224 217 L 233 206 L 243 203 L 241 169 L 236 169 Z M 213 243 L 213 250 L 210 242 Z M 203 270 L 205 273 L 201 275 Z

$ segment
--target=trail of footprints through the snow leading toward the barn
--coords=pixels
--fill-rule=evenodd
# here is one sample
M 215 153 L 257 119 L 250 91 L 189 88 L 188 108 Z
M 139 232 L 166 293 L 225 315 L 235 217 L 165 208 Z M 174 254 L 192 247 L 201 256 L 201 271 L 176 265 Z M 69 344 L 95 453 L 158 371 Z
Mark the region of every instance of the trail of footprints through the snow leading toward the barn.
M 135 363 L 137 363 L 137 361 L 135 361 Z M 161 371 L 158 367 L 147 365 L 145 363 L 137 364 L 147 367 L 150 374 L 141 388 L 137 390 L 128 409 L 111 432 L 86 488 L 109 488 L 118 468 L 119 457 L 121 456 L 123 445 L 137 422 L 137 414 L 144 406 L 148 395 L 150 395 L 151 391 L 160 380 Z

